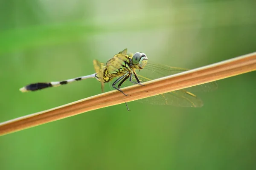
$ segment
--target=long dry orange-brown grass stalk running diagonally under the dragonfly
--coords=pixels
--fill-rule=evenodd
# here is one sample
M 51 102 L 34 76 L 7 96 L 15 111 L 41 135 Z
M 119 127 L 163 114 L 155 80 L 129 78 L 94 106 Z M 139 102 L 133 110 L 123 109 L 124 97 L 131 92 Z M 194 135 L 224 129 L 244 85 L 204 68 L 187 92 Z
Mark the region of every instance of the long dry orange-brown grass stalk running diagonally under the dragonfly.
M 125 94 L 128 94 L 128 96 L 124 96 L 119 91 L 110 91 L 86 99 L 81 99 L 67 105 L 62 105 L 57 108 L 52 108 L 47 111 L 41 111 L 12 119 L 0 123 L 0 136 L 64 119 L 87 111 L 118 105 L 124 102 L 131 102 L 137 99 L 176 91 L 182 88 L 188 88 L 255 70 L 256 52 L 182 72 L 180 74 L 145 82 L 145 86 L 133 85 L 123 88 L 122 91 L 124 91 Z

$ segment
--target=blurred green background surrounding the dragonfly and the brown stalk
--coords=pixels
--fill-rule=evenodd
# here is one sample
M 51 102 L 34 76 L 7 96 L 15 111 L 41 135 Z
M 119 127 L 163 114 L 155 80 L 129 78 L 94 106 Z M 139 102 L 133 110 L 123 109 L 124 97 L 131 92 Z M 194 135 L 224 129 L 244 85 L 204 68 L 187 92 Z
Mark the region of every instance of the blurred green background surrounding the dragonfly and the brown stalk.
M 101 93 L 92 74 L 124 48 L 197 68 L 256 51 L 255 0 L 1 0 L 0 122 Z M 198 94 L 203 108 L 138 102 L 0 137 L 0 170 L 256 169 L 256 73 Z

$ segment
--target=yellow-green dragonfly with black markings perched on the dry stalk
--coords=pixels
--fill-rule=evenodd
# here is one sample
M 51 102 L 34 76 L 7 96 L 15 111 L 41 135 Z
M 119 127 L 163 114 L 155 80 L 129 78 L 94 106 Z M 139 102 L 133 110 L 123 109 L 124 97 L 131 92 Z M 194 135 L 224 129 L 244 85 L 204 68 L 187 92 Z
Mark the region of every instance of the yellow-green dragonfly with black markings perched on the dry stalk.
M 38 91 L 44 88 L 57 87 L 60 85 L 66 85 L 70 82 L 76 82 L 88 78 L 96 78 L 101 83 L 102 92 L 104 92 L 105 83 L 111 82 L 112 87 L 125 94 L 120 88 L 121 86 L 128 86 L 128 82 L 131 84 L 143 85 L 143 82 L 150 81 L 152 79 L 177 74 L 183 71 L 188 71 L 186 68 L 170 67 L 168 65 L 156 64 L 148 62 L 148 57 L 142 52 L 136 52 L 135 54 L 127 54 L 127 48 L 114 55 L 108 62 L 99 62 L 93 60 L 94 74 L 87 76 L 76 77 L 73 79 L 67 79 L 57 82 L 37 82 L 20 88 L 21 92 Z M 140 70 L 145 70 L 140 71 Z M 140 74 L 137 74 L 137 72 Z M 174 105 L 178 107 L 202 107 L 202 100 L 193 94 L 192 92 L 206 92 L 217 89 L 216 82 L 209 82 L 202 85 L 197 85 L 191 88 L 185 88 L 178 91 L 172 91 L 165 94 L 159 94 L 144 99 L 137 100 L 138 102 L 148 103 L 153 105 Z M 129 111 L 128 105 L 125 102 Z

